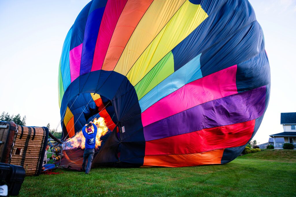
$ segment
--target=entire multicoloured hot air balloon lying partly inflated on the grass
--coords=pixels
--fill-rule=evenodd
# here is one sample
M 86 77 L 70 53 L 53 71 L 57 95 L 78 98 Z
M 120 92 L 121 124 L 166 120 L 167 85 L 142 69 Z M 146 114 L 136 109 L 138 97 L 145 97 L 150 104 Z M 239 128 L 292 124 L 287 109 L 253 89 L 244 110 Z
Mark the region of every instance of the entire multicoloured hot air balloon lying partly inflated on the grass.
M 263 31 L 247 0 L 90 1 L 66 35 L 58 78 L 60 165 L 73 169 L 81 129 L 96 118 L 93 167 L 230 162 L 270 95 Z

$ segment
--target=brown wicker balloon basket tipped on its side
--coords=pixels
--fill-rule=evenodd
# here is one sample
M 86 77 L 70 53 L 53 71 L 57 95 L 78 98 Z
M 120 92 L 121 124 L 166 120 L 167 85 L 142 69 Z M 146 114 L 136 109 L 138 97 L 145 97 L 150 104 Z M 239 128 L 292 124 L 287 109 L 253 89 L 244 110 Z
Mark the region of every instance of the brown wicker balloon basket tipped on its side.
M 26 127 L 0 121 L 0 161 L 23 166 L 26 175 L 39 175 L 48 132 L 46 127 Z

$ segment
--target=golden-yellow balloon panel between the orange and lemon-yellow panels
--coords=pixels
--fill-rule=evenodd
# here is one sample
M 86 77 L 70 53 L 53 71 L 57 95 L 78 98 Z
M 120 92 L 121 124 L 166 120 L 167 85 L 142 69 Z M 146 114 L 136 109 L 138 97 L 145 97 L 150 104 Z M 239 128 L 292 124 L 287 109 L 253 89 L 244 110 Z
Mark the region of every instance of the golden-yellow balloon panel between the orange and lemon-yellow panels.
M 114 71 L 126 75 L 142 52 L 185 1 L 155 0 L 131 35 Z

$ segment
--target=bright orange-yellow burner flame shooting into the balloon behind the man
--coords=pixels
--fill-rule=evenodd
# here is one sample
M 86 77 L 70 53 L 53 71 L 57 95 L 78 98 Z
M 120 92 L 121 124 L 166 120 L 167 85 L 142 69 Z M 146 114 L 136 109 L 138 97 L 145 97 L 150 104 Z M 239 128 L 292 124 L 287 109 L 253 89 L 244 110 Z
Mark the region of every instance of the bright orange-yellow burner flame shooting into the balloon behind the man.
M 108 127 L 106 126 L 104 118 L 95 118 L 93 123 L 97 127 L 96 133 L 96 148 L 101 146 L 102 140 L 100 138 L 108 132 Z M 91 129 L 94 131 L 94 126 L 91 126 Z M 85 148 L 85 137 L 83 136 L 82 131 L 79 131 L 75 136 L 70 138 L 65 143 L 65 150 L 75 149 L 75 148 Z

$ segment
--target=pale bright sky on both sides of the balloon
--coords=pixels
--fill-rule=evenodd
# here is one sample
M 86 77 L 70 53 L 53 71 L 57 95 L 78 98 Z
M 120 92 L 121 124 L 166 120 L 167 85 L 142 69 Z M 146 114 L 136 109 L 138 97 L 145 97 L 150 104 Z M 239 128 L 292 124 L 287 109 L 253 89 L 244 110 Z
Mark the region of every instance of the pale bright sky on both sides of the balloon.
M 27 126 L 57 128 L 58 67 L 66 34 L 88 0 L 0 0 L 0 113 L 26 115 Z M 254 136 L 283 131 L 281 112 L 296 112 L 296 1 L 250 0 L 265 37 L 271 95 Z M 61 126 L 58 127 L 61 130 Z

